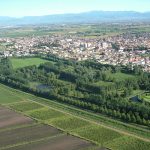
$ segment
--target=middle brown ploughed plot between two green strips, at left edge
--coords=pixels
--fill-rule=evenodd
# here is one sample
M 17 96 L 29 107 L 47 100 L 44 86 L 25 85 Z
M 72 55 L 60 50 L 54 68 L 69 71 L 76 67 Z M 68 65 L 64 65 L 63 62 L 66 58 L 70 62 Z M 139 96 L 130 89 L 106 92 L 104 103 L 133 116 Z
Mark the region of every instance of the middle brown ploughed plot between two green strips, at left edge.
M 0 132 L 0 146 L 9 147 L 23 142 L 51 137 L 60 134 L 60 131 L 47 125 L 33 125 Z M 5 136 L 4 136 L 5 135 Z

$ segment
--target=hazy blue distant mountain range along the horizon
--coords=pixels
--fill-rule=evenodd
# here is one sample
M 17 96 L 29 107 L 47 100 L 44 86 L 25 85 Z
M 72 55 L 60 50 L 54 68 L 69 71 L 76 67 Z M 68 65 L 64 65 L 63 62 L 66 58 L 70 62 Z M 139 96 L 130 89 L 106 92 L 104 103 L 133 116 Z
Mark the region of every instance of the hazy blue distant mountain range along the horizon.
M 150 21 L 150 12 L 134 11 L 91 11 L 78 14 L 57 14 L 46 16 L 27 16 L 22 18 L 0 17 L 0 25 L 35 25 L 65 23 L 101 23 L 124 21 Z

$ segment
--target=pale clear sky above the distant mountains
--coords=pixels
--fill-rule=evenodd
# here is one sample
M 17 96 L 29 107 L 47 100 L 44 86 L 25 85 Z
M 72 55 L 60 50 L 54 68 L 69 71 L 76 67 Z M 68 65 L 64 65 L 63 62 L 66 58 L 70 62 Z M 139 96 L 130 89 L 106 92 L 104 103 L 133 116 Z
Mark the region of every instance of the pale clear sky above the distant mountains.
M 39 16 L 91 10 L 150 11 L 150 0 L 0 0 L 0 16 Z

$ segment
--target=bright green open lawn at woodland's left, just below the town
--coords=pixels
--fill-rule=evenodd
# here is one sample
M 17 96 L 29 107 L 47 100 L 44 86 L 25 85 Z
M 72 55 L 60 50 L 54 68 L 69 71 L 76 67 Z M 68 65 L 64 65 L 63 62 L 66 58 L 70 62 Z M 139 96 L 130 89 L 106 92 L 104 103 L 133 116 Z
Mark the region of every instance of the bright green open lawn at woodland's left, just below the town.
M 49 61 L 41 58 L 12 58 L 11 62 L 13 68 L 18 69 L 18 68 L 23 68 L 32 65 L 40 65 L 42 63 L 49 62 Z

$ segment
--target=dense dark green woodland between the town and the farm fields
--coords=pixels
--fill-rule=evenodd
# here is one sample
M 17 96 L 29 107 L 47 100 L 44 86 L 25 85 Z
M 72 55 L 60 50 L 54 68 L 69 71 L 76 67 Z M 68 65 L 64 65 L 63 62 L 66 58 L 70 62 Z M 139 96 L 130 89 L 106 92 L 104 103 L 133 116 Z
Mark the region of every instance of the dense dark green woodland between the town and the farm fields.
M 16 71 L 12 69 L 8 58 L 1 59 L 0 81 L 41 97 L 126 122 L 150 125 L 150 103 L 129 100 L 133 90 L 150 91 L 150 74 L 137 67 L 102 65 L 94 61 L 75 62 L 50 55 L 44 59 L 55 63 L 48 62 Z M 117 81 L 112 77 L 116 72 L 129 73 L 135 78 Z M 98 81 L 112 84 L 95 84 Z M 33 82 L 48 85 L 48 89 L 31 86 Z

